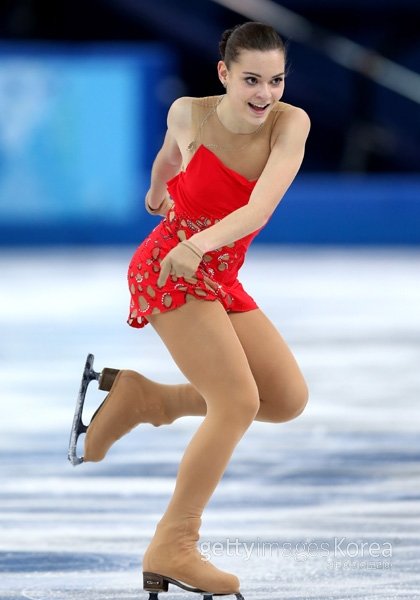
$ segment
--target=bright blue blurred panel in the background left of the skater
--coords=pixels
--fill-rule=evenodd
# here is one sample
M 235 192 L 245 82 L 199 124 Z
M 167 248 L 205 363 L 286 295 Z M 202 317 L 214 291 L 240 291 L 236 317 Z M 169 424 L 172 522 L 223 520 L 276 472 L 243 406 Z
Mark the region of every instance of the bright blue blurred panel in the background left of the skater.
M 162 45 L 0 46 L 3 245 L 138 233 L 174 71 Z

